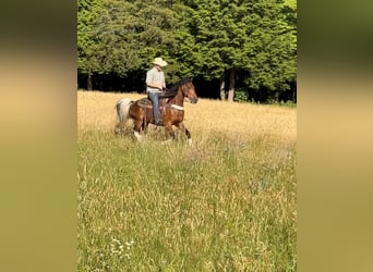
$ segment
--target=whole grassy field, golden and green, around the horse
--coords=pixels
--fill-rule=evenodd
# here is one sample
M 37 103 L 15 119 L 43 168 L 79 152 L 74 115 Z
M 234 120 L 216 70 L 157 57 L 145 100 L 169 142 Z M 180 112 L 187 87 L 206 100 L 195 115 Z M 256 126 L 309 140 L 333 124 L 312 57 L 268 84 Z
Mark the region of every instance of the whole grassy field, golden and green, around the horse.
M 77 92 L 79 271 L 296 271 L 297 109 L 200 99 L 163 145 L 116 137 L 116 101 Z

